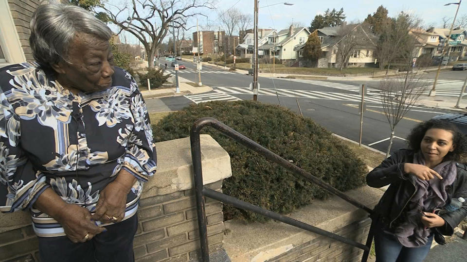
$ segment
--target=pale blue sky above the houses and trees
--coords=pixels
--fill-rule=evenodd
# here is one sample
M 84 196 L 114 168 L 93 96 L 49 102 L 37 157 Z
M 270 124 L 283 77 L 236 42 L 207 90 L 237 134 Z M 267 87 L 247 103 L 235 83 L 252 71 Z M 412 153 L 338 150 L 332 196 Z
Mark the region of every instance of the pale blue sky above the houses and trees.
M 304 26 L 309 26 L 313 18 L 318 14 L 323 14 L 326 9 L 344 9 L 346 21 L 364 20 L 368 14 L 376 12 L 377 7 L 383 5 L 389 11 L 389 16 L 396 16 L 404 11 L 414 14 L 423 20 L 425 26 L 439 26 L 442 23 L 442 17 L 454 17 L 457 5 L 444 6 L 449 2 L 458 0 L 287 0 L 293 3 L 292 6 L 277 4 L 284 0 L 260 0 L 258 28 L 274 28 L 277 30 L 286 29 L 293 22 L 300 22 Z M 273 5 L 273 6 L 269 6 Z M 206 19 L 218 22 L 218 14 L 222 14 L 231 7 L 239 9 L 242 13 L 253 15 L 254 0 L 216 0 L 215 9 L 204 9 L 202 13 L 207 15 L 198 16 L 200 26 L 206 24 Z M 269 6 L 269 7 L 268 7 Z M 461 4 L 459 16 L 467 14 L 467 1 Z M 451 21 L 452 22 L 452 21 Z M 191 19 L 190 25 L 196 26 L 196 18 Z M 190 32 L 196 31 L 196 27 Z M 125 33 L 127 41 L 137 43 L 134 36 Z M 190 37 L 192 36 L 189 33 Z M 123 36 L 122 36 L 123 38 Z M 168 37 L 166 36 L 167 41 Z

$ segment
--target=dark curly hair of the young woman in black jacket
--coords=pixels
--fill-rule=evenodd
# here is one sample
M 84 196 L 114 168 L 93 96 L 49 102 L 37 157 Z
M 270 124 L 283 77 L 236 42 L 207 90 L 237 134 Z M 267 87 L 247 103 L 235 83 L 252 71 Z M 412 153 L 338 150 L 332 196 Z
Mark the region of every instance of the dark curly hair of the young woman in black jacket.
M 420 123 L 413 128 L 409 136 L 407 136 L 407 145 L 414 151 L 420 150 L 420 143 L 422 142 L 425 133 L 429 129 L 443 129 L 452 133 L 452 143 L 455 145 L 454 151 L 449 152 L 445 159 L 459 161 L 466 158 L 467 155 L 467 138 L 459 129 L 448 120 L 431 119 L 429 121 Z

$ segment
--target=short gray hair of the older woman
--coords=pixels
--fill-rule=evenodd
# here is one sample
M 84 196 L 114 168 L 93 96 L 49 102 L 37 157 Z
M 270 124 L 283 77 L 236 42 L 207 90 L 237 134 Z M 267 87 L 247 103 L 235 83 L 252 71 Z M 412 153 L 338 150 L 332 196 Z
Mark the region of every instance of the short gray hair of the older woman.
M 44 4 L 37 7 L 31 23 L 29 43 L 36 62 L 44 69 L 66 61 L 69 44 L 76 33 L 87 33 L 109 40 L 112 31 L 101 20 L 81 7 Z

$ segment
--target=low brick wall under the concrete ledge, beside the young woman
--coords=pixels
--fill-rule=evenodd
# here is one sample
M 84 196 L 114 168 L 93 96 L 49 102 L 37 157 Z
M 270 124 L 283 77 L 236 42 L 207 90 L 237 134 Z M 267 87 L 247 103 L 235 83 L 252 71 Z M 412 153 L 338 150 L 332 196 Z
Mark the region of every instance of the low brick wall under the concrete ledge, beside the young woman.
M 350 238 L 359 243 L 365 243 L 370 230 L 371 220 L 367 218 L 363 221 L 354 222 L 333 233 Z M 286 261 L 346 261 L 358 262 L 361 260 L 363 250 L 354 246 L 332 240 L 328 237 L 320 236 L 300 246 L 295 246 L 286 253 L 283 253 L 268 262 Z

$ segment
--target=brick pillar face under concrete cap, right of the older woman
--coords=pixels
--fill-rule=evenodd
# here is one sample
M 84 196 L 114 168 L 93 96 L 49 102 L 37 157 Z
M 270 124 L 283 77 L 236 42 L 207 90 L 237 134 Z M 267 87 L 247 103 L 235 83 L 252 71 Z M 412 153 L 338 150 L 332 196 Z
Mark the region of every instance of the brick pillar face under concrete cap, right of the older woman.
M 222 181 L 207 185 L 221 191 Z M 178 191 L 141 199 L 134 251 L 141 261 L 188 261 L 198 257 L 198 219 L 194 191 Z M 206 198 L 209 251 L 222 247 L 222 204 Z

